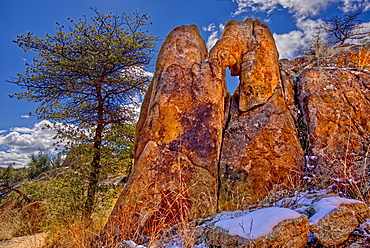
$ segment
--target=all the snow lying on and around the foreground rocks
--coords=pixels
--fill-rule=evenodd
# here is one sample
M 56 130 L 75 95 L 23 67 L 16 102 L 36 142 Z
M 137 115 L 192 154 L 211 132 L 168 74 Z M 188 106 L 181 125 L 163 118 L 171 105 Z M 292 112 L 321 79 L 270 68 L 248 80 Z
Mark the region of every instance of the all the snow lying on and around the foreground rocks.
M 358 203 L 361 201 L 342 197 L 327 197 L 315 202 L 318 197 L 328 194 L 328 190 L 295 192 L 293 197 L 281 199 L 270 206 L 251 212 L 250 210 L 222 211 L 214 217 L 209 217 L 201 225 L 206 227 L 214 224 L 217 227 L 228 230 L 231 235 L 243 238 L 256 239 L 272 232 L 273 228 L 281 221 L 296 219 L 307 209 L 313 208 L 315 214 L 309 218 L 310 224 L 317 223 L 321 218 L 339 207 L 341 204 Z M 289 206 L 289 208 L 284 208 Z M 362 235 L 370 237 L 370 219 L 363 223 L 359 230 Z M 313 236 L 309 241 L 313 240 Z M 183 248 L 181 237 L 170 237 L 170 242 L 162 244 L 161 248 Z M 132 248 L 145 248 L 136 245 L 132 241 L 123 241 Z M 123 243 L 122 242 L 122 243 Z M 204 242 L 194 245 L 195 248 L 208 248 Z

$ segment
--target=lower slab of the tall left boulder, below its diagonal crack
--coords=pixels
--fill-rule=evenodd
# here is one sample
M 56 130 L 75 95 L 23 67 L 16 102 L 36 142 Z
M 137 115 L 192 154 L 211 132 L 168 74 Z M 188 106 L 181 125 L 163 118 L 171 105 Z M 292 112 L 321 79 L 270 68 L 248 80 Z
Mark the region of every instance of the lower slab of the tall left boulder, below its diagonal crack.
M 158 234 L 215 208 L 214 178 L 185 155 L 150 141 L 136 165 L 105 227 L 106 245 Z

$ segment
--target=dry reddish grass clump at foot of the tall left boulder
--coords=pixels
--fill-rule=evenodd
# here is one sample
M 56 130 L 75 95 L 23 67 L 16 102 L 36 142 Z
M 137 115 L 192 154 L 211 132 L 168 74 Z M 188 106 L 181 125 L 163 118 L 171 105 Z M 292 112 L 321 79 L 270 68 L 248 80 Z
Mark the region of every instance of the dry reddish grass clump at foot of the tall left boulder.
M 164 187 L 167 190 L 158 193 L 159 202 L 154 209 L 140 213 L 132 241 L 148 247 L 163 247 L 171 242 L 181 243 L 182 247 L 194 247 L 196 225 L 190 220 L 208 214 L 209 209 L 216 209 L 216 202 L 212 200 L 210 192 L 203 191 L 197 196 L 197 201 L 190 199 L 189 195 L 197 190 L 198 182 L 189 185 L 188 178 L 183 177 L 180 163 L 178 165 L 177 179 Z M 129 205 L 126 204 L 126 207 Z M 121 230 L 121 233 L 125 231 Z

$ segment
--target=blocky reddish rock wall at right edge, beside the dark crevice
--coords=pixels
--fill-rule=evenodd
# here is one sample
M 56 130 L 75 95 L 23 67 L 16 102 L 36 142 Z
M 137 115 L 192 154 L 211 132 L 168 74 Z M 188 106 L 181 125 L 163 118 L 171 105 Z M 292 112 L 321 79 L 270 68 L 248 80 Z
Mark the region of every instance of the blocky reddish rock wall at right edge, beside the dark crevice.
M 310 68 L 299 76 L 315 174 L 360 178 L 370 144 L 370 74 L 347 68 Z

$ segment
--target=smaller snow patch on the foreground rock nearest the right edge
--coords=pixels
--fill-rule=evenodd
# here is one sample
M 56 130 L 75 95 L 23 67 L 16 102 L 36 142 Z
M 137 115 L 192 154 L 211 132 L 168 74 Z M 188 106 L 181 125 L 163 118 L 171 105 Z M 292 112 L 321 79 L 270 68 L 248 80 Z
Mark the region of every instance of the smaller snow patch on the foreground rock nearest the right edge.
M 320 219 L 324 218 L 331 211 L 339 207 L 341 204 L 362 203 L 358 200 L 347 199 L 342 197 L 327 197 L 316 202 L 313 207 L 316 213 L 308 220 L 310 224 L 316 224 Z

